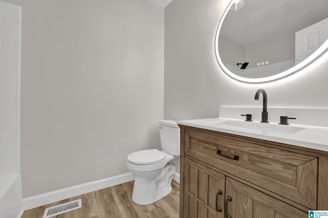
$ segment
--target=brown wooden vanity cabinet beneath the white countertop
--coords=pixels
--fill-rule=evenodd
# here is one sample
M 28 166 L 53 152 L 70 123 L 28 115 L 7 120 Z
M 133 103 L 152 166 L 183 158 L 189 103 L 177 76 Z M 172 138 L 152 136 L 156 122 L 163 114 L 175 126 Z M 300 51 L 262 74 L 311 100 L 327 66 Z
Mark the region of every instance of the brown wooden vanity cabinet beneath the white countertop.
M 296 218 L 328 209 L 325 152 L 179 126 L 180 217 Z

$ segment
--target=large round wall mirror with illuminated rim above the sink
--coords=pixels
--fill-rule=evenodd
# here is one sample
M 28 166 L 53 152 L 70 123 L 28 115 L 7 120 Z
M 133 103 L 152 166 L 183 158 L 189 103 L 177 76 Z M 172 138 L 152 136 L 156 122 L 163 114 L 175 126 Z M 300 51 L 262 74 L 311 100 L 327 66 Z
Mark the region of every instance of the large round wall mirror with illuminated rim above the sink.
M 215 37 L 220 67 L 245 83 L 294 74 L 328 50 L 327 9 L 327 0 L 231 1 Z

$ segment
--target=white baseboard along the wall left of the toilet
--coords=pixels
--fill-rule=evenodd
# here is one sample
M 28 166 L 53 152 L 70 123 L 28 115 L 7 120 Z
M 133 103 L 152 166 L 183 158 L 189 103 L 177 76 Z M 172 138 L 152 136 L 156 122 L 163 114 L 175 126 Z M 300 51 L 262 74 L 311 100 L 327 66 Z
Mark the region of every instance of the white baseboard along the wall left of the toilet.
M 127 174 L 109 177 L 106 179 L 88 182 L 81 185 L 75 185 L 69 188 L 63 188 L 56 191 L 43 193 L 41 195 L 32 196 L 29 198 L 24 198 L 23 210 L 29 210 L 53 202 L 65 200 L 79 195 L 84 195 L 85 193 L 130 182 L 132 180 L 134 180 L 134 176 L 131 173 L 127 173 Z

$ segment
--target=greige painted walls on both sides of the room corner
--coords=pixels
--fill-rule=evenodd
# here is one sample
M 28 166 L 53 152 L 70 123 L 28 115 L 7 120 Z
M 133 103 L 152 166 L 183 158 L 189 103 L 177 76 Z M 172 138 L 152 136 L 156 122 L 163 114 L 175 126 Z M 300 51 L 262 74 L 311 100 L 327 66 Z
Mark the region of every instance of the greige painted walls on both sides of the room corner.
M 224 2 L 174 0 L 166 8 L 163 79 L 163 9 L 143 0 L 6 1 L 23 11 L 24 198 L 127 173 L 129 153 L 159 148 L 163 112 L 178 120 L 260 106 L 258 88 L 270 107 L 328 107 L 328 54 L 269 84 L 223 74 L 213 46 Z

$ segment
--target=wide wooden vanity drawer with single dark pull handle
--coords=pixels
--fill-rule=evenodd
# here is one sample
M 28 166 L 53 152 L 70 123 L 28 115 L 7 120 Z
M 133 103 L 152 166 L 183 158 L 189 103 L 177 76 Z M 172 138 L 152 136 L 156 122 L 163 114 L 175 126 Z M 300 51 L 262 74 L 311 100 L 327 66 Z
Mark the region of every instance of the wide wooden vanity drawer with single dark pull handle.
M 185 155 L 311 209 L 317 208 L 318 159 L 265 146 L 265 141 L 186 129 Z M 235 157 L 235 159 L 230 159 Z

